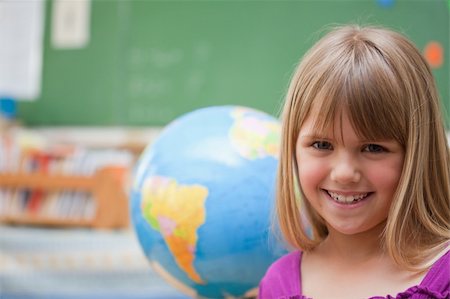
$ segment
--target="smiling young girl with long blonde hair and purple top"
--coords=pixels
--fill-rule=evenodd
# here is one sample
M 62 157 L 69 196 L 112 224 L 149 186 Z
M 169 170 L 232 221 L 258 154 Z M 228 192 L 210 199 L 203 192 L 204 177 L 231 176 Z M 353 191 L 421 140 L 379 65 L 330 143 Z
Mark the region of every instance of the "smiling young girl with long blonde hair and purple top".
M 296 250 L 259 298 L 450 298 L 450 153 L 413 44 L 335 29 L 304 56 L 282 117 L 277 217 Z

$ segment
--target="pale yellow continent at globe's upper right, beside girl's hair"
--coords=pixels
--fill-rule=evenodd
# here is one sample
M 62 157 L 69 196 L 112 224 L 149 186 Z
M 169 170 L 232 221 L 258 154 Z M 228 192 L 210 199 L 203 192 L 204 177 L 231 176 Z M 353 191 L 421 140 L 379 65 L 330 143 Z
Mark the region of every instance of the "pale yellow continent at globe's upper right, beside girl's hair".
M 231 117 L 230 139 L 235 150 L 247 159 L 265 157 L 278 158 L 280 124 L 262 113 L 245 108 L 236 108 Z

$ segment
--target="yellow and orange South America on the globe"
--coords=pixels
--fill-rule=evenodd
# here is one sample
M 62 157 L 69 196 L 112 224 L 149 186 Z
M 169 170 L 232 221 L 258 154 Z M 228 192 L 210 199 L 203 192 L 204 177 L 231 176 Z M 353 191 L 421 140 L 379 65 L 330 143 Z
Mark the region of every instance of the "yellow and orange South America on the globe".
M 161 233 L 177 265 L 199 284 L 205 282 L 194 268 L 194 258 L 197 230 L 206 218 L 207 197 L 208 189 L 201 185 L 179 185 L 162 176 L 148 178 L 142 189 L 145 220 Z

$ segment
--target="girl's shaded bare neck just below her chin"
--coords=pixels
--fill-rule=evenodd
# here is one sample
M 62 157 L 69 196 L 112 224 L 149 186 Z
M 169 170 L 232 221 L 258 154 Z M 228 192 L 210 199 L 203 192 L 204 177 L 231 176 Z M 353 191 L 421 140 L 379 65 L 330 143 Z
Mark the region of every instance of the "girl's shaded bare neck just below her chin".
M 328 237 L 317 247 L 325 256 L 343 263 L 367 262 L 386 257 L 382 245 L 385 223 L 370 231 L 345 235 L 329 228 Z

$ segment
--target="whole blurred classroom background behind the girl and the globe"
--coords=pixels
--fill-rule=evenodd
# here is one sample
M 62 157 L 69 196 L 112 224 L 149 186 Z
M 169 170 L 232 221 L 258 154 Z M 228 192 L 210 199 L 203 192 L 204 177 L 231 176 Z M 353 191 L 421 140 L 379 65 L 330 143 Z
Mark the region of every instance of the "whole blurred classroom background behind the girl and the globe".
M 347 23 L 415 42 L 450 128 L 449 15 L 447 0 L 0 0 L 0 298 L 186 298 L 128 212 L 161 129 L 208 106 L 277 116 L 299 58 Z

